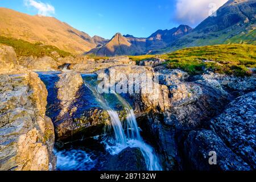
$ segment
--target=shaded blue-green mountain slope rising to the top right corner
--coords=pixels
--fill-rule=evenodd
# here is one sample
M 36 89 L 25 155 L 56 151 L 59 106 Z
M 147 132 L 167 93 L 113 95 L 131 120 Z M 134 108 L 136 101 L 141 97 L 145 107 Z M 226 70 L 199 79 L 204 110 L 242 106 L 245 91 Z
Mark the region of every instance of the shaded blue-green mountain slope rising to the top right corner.
M 185 47 L 214 44 L 256 44 L 256 0 L 229 0 L 192 32 L 177 39 L 167 48 L 154 53 L 175 51 Z

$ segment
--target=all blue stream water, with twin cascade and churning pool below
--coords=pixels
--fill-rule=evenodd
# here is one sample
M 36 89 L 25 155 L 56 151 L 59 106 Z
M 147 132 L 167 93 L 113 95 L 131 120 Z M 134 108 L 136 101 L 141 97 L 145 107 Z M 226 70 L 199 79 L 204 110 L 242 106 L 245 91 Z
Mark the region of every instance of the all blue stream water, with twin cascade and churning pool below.
M 64 72 L 68 71 L 68 67 L 64 68 Z M 55 83 L 59 81 L 60 72 L 39 72 L 40 78 L 44 81 L 48 90 L 48 110 L 47 114 L 51 118 L 55 118 L 57 110 L 55 105 L 59 102 L 56 100 Z M 117 155 L 126 148 L 139 148 L 144 157 L 146 167 L 149 171 L 160 171 L 162 167 L 159 164 L 158 157 L 154 149 L 148 145 L 141 137 L 141 129 L 138 127 L 133 108 L 119 94 L 100 94 L 97 92 L 97 75 L 82 75 L 86 92 L 82 96 L 85 100 L 85 105 L 82 105 L 81 112 L 87 107 L 102 107 L 108 111 L 110 123 L 105 127 L 102 139 L 97 138 L 93 141 L 85 140 L 82 143 L 73 143 L 61 150 L 55 150 L 57 156 L 57 170 L 78 170 L 89 171 L 91 169 L 101 169 L 101 160 L 105 160 L 106 153 L 108 155 Z M 88 89 L 87 89 L 88 88 Z M 90 92 L 90 91 L 91 92 Z M 88 93 L 90 92 L 90 93 Z M 89 103 L 89 105 L 88 105 Z M 126 121 L 121 122 L 118 111 L 119 105 L 122 105 L 122 110 L 126 111 Z M 109 131 L 113 131 L 112 137 L 109 136 Z M 85 142 L 85 143 L 84 143 Z M 99 146 L 101 147 L 99 148 Z M 127 159 L 129 160 L 129 159 Z M 108 168 L 106 168 L 108 169 Z

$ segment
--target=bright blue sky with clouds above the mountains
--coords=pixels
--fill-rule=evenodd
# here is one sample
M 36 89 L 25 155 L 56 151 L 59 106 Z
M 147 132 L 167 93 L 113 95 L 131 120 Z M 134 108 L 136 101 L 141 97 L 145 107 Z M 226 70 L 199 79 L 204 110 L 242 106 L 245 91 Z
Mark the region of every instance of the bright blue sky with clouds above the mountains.
M 195 27 L 201 20 L 207 18 L 210 2 L 219 3 L 221 1 L 222 5 L 227 0 L 191 1 L 0 0 L 0 7 L 7 7 L 30 15 L 54 16 L 90 36 L 99 35 L 110 39 L 116 32 L 148 37 L 156 30 L 171 29 L 179 24 Z M 205 12 L 203 13 L 203 11 Z

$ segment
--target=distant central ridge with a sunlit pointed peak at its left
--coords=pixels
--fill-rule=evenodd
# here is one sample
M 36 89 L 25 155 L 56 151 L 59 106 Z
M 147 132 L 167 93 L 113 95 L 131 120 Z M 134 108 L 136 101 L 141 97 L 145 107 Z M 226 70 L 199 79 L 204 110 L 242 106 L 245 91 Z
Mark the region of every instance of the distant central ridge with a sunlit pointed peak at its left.
M 171 30 L 158 30 L 148 38 L 135 38 L 133 35 L 117 33 L 108 43 L 94 48 L 86 52 L 86 54 L 98 56 L 148 54 L 155 49 L 166 48 L 169 44 L 191 31 L 191 27 L 181 25 Z

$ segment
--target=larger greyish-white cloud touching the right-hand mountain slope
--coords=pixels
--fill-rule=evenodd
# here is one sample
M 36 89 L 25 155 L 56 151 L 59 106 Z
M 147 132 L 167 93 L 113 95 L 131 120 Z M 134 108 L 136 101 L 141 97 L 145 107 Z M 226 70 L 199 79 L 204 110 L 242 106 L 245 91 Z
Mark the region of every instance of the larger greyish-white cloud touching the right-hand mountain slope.
M 196 26 L 228 0 L 176 0 L 175 22 Z M 214 6 L 213 6 L 214 5 Z

